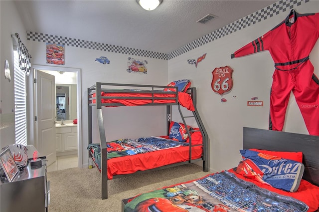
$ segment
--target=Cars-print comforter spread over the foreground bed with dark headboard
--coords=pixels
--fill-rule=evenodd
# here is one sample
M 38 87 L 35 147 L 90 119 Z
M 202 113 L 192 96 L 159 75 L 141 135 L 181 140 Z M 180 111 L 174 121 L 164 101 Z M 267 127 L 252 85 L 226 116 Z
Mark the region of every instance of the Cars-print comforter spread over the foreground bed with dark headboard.
M 319 188 L 300 191 L 299 200 L 290 192 L 278 194 L 239 178 L 232 169 L 138 195 L 128 201 L 125 212 L 307 212 L 318 208 Z M 301 185 L 307 181 L 302 180 Z M 303 189 L 302 189 L 303 190 Z M 297 192 L 298 193 L 298 192 Z M 318 197 L 318 196 L 317 196 Z M 312 202 L 313 201 L 313 202 Z M 316 206 L 317 204 L 317 206 Z M 313 210 L 314 211 L 314 210 Z

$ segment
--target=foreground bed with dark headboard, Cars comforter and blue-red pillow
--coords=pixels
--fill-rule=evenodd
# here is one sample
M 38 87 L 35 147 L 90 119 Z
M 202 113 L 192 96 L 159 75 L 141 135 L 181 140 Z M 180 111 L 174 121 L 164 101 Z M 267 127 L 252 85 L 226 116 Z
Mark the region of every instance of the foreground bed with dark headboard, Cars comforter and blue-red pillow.
M 318 212 L 319 137 L 243 135 L 237 167 L 122 200 L 122 212 Z

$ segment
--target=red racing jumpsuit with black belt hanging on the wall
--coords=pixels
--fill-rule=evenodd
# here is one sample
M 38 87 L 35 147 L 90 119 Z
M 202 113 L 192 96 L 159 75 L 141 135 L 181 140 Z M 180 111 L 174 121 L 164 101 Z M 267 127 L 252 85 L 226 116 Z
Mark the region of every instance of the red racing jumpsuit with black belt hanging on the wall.
M 318 37 L 319 13 L 299 14 L 291 10 L 284 21 L 231 55 L 234 58 L 269 50 L 275 62 L 270 130 L 283 130 L 290 92 L 293 91 L 309 134 L 319 136 L 319 79 L 309 60 Z

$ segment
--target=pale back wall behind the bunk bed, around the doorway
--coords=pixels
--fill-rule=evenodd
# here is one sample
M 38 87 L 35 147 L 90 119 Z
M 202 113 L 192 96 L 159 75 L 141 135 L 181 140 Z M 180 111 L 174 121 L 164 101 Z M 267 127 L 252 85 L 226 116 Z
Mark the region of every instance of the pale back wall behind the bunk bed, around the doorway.
M 45 42 L 30 41 L 32 45 L 32 64 L 46 64 Z M 106 56 L 110 64 L 95 62 L 95 58 Z M 126 71 L 128 57 L 147 60 L 147 74 L 129 73 Z M 82 155 L 83 164 L 88 163 L 88 103 L 87 88 L 95 82 L 129 83 L 129 84 L 167 84 L 167 60 L 147 58 L 135 55 L 112 53 L 107 51 L 65 46 L 65 67 L 81 69 L 81 102 L 82 102 Z M 95 109 L 95 107 L 93 107 Z M 107 140 L 120 138 L 137 138 L 142 136 L 159 136 L 165 134 L 166 107 L 119 107 L 104 108 L 104 121 Z M 160 111 L 160 113 L 158 113 Z M 156 113 L 157 115 L 150 116 Z M 160 115 L 158 115 L 160 114 Z M 130 117 L 127 119 L 126 117 Z M 93 111 L 96 121 L 96 113 Z M 152 118 L 151 118 L 152 117 Z M 158 123 L 163 123 L 159 125 Z M 152 133 L 151 133 L 152 132 Z M 93 121 L 93 142 L 99 143 L 97 121 Z M 84 165 L 85 166 L 85 165 Z

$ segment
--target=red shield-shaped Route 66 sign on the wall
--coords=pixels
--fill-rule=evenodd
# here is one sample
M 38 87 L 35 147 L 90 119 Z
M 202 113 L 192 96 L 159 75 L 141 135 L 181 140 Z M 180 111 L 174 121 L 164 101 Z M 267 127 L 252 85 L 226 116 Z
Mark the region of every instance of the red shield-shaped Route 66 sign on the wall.
M 234 70 L 228 65 L 215 68 L 211 72 L 213 74 L 213 80 L 211 82 L 211 88 L 213 89 L 213 91 L 219 93 L 220 95 L 230 91 L 233 87 L 233 71 Z

